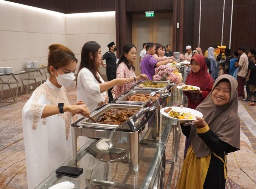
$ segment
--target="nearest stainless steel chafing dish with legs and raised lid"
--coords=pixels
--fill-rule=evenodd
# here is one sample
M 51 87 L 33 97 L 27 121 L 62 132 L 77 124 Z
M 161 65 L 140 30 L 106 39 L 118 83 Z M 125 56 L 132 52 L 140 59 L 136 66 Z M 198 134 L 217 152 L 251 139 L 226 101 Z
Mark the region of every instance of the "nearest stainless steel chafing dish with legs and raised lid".
M 151 101 L 145 106 L 129 104 L 108 104 L 93 112 L 91 117 L 97 120 L 109 109 L 137 109 L 128 120 L 120 125 L 93 123 L 88 118 L 82 118 L 71 125 L 72 150 L 74 164 L 77 164 L 77 137 L 85 136 L 95 141 L 87 148 L 95 158 L 102 161 L 116 161 L 127 155 L 127 161 L 133 173 L 139 170 L 139 142 L 150 128 L 149 120 L 155 114 L 156 105 Z

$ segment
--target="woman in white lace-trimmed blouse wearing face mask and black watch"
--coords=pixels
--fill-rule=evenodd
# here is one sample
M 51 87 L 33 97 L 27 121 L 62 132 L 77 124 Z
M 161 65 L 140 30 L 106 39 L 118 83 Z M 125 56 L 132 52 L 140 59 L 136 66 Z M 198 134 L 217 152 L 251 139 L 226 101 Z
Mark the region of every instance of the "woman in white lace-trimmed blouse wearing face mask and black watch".
M 49 46 L 50 78 L 37 87 L 22 110 L 28 188 L 37 187 L 70 156 L 72 115 L 90 115 L 82 101 L 70 105 L 65 87 L 75 79 L 77 59 L 61 44 Z

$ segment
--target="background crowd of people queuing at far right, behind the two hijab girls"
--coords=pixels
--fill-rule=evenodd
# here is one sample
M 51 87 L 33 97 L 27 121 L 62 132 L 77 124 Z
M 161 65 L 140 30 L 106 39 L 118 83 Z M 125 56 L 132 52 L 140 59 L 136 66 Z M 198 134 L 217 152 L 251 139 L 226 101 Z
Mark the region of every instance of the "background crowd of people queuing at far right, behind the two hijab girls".
M 225 49 L 225 60 L 224 62 L 220 62 L 219 72 L 216 74 L 217 68 L 217 45 L 213 45 L 206 50 L 204 53 L 206 66 L 208 69 L 208 73 L 211 74 L 211 78 L 215 81 L 216 75 L 221 76 L 223 74 L 229 74 L 236 78 L 238 82 L 238 98 L 244 101 L 251 101 L 248 105 L 255 106 L 255 56 L 256 51 L 254 49 L 250 49 L 248 54 L 246 55 L 245 46 L 241 45 L 237 48 L 237 50 L 231 54 L 231 50 L 229 48 Z M 195 50 L 192 50 L 191 46 L 186 46 L 186 54 L 185 60 L 191 61 L 191 58 L 196 54 L 202 55 L 201 48 L 197 47 Z M 182 54 L 180 56 L 183 56 Z M 184 78 L 186 80 L 187 74 L 190 73 L 191 67 L 187 64 L 187 68 L 184 70 Z M 246 94 L 245 98 L 245 90 L 244 83 L 246 83 Z

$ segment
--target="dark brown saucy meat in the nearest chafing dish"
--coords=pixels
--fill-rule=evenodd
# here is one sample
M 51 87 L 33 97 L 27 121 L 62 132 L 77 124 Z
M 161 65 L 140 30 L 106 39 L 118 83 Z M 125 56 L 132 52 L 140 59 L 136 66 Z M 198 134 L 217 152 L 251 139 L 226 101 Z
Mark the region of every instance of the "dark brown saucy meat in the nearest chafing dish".
M 97 121 L 102 124 L 120 125 L 132 117 L 137 111 L 137 109 L 113 108 L 103 113 Z

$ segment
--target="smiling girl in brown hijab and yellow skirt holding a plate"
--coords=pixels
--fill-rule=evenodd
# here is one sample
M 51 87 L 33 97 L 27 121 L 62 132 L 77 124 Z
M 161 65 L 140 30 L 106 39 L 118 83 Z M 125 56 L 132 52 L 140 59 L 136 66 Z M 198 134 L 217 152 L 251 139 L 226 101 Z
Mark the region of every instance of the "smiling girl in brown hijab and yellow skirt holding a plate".
M 237 81 L 230 75 L 217 78 L 213 90 L 196 110 L 194 126 L 182 126 L 192 145 L 180 174 L 179 189 L 224 189 L 226 153 L 240 148 Z

